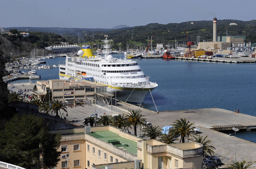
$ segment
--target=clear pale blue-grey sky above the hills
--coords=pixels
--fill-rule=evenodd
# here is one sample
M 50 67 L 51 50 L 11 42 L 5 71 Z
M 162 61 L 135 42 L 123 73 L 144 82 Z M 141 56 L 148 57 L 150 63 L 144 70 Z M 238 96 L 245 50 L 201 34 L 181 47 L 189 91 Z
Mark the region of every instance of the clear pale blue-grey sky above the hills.
M 256 0 L 1 0 L 0 27 L 129 27 L 254 20 Z

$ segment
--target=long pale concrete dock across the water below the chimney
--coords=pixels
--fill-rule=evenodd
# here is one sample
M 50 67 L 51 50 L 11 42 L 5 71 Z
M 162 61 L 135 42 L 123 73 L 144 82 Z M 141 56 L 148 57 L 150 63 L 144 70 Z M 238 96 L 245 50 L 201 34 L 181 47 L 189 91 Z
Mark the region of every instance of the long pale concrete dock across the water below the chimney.
M 224 57 L 213 57 L 209 58 L 184 58 L 182 56 L 176 56 L 175 59 L 180 60 L 191 60 L 191 61 L 202 61 L 202 62 L 219 62 L 219 63 L 256 63 L 256 58 L 251 57 L 240 57 L 240 58 L 224 58 Z

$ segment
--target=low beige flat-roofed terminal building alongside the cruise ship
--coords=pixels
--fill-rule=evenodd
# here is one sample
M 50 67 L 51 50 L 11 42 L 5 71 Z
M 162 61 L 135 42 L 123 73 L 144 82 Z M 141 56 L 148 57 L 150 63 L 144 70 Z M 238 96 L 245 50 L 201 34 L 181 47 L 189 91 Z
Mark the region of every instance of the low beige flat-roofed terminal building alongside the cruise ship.
M 33 95 L 38 96 L 41 100 L 45 100 L 47 88 L 52 93 L 52 99 L 59 99 L 66 105 L 74 105 L 74 103 L 92 103 L 95 94 L 106 93 L 107 85 L 90 82 L 87 80 L 47 80 L 37 81 L 37 91 L 32 91 Z

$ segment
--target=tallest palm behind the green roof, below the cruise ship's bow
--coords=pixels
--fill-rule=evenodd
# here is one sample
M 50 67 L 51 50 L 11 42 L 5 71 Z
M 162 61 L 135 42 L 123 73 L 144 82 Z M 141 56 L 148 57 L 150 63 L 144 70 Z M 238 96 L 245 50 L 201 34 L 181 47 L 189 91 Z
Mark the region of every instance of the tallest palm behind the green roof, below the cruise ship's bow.
M 129 126 L 133 126 L 134 127 L 134 135 L 137 136 L 137 126 L 138 125 L 142 125 L 146 122 L 145 118 L 141 118 L 144 115 L 141 115 L 141 111 L 139 110 L 132 110 L 129 111 L 129 114 L 126 115 L 127 117 L 127 122 Z

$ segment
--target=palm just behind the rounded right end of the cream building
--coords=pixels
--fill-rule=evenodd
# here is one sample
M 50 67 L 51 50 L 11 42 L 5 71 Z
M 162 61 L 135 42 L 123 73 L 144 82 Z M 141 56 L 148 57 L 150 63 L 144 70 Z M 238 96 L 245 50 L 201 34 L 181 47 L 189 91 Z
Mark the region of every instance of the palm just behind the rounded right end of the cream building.
M 191 141 L 193 141 L 193 142 L 200 143 L 200 144 L 203 145 L 204 158 L 205 158 L 206 155 L 210 155 L 210 156 L 211 156 L 212 154 L 214 154 L 213 149 L 215 149 L 215 147 L 213 147 L 213 146 L 211 146 L 211 145 L 208 145 L 208 144 L 211 143 L 210 140 L 206 140 L 206 138 L 207 138 L 208 136 L 206 136 L 206 137 L 203 138 L 203 136 L 201 136 L 201 135 L 199 134 L 198 137 L 195 137 L 195 136 L 193 136 L 193 137 L 194 137 L 194 139 L 190 138 L 189 140 L 191 140 Z

